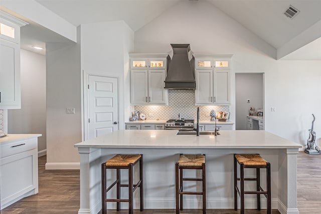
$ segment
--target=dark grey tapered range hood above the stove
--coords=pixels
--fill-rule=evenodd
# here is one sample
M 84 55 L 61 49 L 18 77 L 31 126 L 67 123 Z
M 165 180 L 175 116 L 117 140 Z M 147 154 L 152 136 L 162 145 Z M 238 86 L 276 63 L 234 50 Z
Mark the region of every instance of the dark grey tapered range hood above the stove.
M 171 44 L 173 57 L 165 80 L 168 89 L 196 88 L 194 74 L 194 57 L 189 44 Z

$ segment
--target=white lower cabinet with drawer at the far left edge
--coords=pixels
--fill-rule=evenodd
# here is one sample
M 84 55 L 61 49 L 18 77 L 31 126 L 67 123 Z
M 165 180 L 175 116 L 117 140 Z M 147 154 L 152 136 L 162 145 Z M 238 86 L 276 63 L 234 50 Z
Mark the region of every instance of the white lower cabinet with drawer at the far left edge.
M 3 143 L 5 144 L 5 143 Z M 38 139 L 6 143 L 1 153 L 1 208 L 38 193 Z

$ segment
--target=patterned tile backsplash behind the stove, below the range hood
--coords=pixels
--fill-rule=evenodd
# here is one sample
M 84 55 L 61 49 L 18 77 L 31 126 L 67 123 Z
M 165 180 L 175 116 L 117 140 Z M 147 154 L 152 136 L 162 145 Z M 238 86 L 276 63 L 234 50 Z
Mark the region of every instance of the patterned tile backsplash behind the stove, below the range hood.
M 168 106 L 134 106 L 134 111 L 144 113 L 147 120 L 177 119 L 178 114 L 184 119 L 196 119 L 197 107 L 200 107 L 200 120 L 210 120 L 208 116 L 214 109 L 216 112 L 229 112 L 227 106 L 196 106 L 194 90 L 169 90 Z

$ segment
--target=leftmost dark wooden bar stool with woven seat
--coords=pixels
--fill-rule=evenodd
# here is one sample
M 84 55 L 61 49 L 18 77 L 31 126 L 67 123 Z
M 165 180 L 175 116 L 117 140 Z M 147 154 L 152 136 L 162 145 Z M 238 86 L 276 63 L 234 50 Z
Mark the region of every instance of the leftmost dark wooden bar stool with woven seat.
M 133 166 L 139 161 L 139 180 L 133 184 Z M 116 169 L 116 180 L 107 187 L 107 169 Z M 128 184 L 120 183 L 120 169 L 128 169 Z M 116 198 L 107 198 L 107 192 L 116 184 Z M 120 187 L 128 187 L 128 199 L 120 198 Z M 101 192 L 102 192 L 102 214 L 107 213 L 107 202 L 117 202 L 117 211 L 120 202 L 129 202 L 128 213 L 133 213 L 133 192 L 139 187 L 140 211 L 143 210 L 143 177 L 142 177 L 142 154 L 117 154 L 101 164 Z

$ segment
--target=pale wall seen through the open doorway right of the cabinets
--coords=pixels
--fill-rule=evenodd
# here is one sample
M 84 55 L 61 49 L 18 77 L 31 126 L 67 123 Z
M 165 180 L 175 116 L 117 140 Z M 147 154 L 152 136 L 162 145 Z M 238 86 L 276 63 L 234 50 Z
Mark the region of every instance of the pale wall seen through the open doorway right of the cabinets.
M 250 103 L 247 103 L 247 99 Z M 235 129 L 246 130 L 249 109 L 263 108 L 263 74 L 235 74 Z M 266 109 L 267 110 L 267 109 Z

